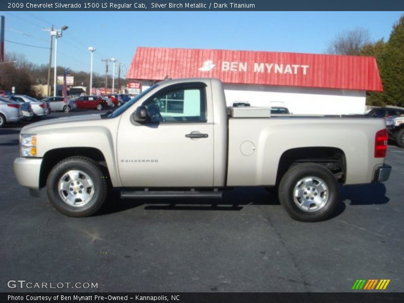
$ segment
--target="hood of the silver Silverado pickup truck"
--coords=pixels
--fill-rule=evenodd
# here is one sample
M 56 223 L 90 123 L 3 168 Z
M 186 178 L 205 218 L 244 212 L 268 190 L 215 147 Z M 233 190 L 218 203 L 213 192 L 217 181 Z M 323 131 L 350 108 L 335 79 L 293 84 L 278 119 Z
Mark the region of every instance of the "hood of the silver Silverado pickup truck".
M 21 133 L 38 133 L 41 131 L 48 131 L 53 129 L 59 128 L 67 128 L 72 126 L 89 126 L 89 125 L 96 125 L 101 123 L 97 123 L 96 121 L 103 120 L 100 114 L 90 114 L 90 115 L 83 115 L 83 116 L 73 116 L 73 117 L 63 117 L 63 118 L 56 118 L 56 119 L 46 119 L 44 121 L 31 123 L 30 125 L 24 126 L 21 129 Z M 86 123 L 89 122 L 89 123 Z M 91 123 L 95 122 L 95 123 Z

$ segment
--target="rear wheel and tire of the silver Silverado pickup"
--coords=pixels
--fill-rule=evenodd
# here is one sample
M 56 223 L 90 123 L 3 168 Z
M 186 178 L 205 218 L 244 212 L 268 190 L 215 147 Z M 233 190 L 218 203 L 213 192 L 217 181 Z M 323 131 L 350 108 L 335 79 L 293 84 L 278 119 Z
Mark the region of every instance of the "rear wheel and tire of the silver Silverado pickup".
M 334 175 L 319 164 L 298 164 L 282 177 L 279 200 L 289 216 L 297 221 L 323 221 L 337 209 L 339 184 Z

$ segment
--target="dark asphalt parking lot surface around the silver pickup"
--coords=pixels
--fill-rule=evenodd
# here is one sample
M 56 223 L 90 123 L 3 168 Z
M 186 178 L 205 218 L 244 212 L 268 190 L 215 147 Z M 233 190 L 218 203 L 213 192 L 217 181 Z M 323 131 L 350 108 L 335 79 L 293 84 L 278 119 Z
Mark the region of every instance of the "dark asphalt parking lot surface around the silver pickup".
M 404 291 L 402 148 L 388 147 L 390 180 L 343 188 L 338 214 L 320 223 L 293 221 L 262 188 L 221 201 L 112 196 L 98 215 L 68 218 L 15 179 L 23 125 L 0 129 L 2 292 L 348 292 L 357 279 L 390 279 L 386 291 Z

